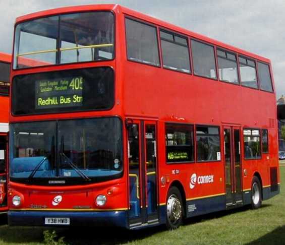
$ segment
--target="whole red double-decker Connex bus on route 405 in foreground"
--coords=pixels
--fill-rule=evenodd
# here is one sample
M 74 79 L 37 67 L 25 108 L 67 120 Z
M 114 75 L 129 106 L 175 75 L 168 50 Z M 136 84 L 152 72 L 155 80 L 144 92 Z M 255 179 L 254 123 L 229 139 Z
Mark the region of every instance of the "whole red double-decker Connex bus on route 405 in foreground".
M 17 18 L 11 81 L 12 225 L 171 229 L 279 193 L 267 58 L 90 5 Z

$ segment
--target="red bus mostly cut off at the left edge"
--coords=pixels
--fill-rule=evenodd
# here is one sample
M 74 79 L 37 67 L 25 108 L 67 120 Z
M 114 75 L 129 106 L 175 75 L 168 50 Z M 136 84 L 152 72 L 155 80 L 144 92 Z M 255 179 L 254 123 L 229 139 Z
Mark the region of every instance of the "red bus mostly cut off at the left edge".
M 8 120 L 10 66 L 12 55 L 0 52 L 0 214 L 8 212 L 7 181 L 8 181 Z

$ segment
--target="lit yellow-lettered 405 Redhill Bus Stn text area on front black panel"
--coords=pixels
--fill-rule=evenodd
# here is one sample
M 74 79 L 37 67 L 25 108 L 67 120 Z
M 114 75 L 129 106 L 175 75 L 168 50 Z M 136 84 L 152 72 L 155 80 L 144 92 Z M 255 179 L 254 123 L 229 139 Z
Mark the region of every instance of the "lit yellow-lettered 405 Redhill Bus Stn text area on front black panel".
M 35 81 L 35 108 L 82 106 L 83 77 Z

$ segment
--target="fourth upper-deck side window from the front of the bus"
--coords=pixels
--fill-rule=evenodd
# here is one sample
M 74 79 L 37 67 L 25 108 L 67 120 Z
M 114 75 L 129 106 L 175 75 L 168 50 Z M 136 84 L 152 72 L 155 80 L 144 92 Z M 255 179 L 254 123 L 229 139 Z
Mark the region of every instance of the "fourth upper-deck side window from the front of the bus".
M 237 56 L 222 49 L 217 49 L 219 80 L 239 84 Z

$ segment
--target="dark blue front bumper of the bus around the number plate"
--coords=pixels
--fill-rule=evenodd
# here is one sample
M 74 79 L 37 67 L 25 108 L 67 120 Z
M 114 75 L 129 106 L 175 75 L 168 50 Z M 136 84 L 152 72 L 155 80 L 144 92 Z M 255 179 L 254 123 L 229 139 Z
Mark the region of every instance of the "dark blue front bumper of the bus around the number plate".
M 128 228 L 127 211 L 9 211 L 9 225 L 51 226 L 44 218 L 70 218 L 69 226 L 118 226 Z M 63 225 L 56 225 L 62 226 Z

